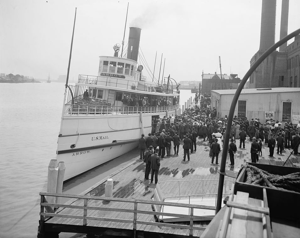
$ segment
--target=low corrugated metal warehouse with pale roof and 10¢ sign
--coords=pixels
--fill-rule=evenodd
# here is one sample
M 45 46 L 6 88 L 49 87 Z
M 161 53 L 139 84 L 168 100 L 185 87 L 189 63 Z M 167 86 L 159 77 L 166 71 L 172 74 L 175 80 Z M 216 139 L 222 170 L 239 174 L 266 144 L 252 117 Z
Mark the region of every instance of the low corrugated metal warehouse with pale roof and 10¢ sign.
M 232 99 L 236 90 L 212 90 L 211 108 L 215 107 L 217 116 L 229 114 Z M 238 118 L 259 118 L 279 120 L 281 123 L 300 120 L 300 88 L 249 88 L 243 89 L 235 108 Z M 293 121 L 294 119 L 294 121 Z

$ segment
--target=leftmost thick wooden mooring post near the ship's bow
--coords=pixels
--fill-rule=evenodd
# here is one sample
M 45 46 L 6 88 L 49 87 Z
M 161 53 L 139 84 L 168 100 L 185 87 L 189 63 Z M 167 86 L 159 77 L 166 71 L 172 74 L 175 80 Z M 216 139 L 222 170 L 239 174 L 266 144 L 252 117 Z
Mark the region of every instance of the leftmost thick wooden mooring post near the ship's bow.
M 56 159 L 50 160 L 48 166 L 47 193 L 56 193 L 58 164 Z M 48 203 L 55 203 L 55 197 L 47 196 Z M 54 209 L 54 207 L 51 207 Z

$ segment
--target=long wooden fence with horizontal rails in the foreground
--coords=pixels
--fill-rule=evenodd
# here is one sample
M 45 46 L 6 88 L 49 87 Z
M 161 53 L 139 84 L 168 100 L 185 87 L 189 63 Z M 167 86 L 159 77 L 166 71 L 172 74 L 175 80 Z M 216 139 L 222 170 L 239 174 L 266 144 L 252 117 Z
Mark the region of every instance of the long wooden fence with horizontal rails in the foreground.
M 149 201 L 149 200 L 141 200 L 141 199 L 111 198 L 111 197 L 70 195 L 70 194 L 62 194 L 62 193 L 44 193 L 44 192 L 41 192 L 40 196 L 41 196 L 41 202 L 40 202 L 41 210 L 40 210 L 39 231 L 41 234 L 46 233 L 46 232 L 51 232 L 51 230 L 46 230 L 46 228 L 47 228 L 46 225 L 52 224 L 51 223 L 52 218 L 60 217 L 60 218 L 64 218 L 62 224 L 60 224 L 61 226 L 64 226 L 64 224 L 71 224 L 72 221 L 74 221 L 74 219 L 81 219 L 82 225 L 84 227 L 86 225 L 92 226 L 93 223 L 89 224 L 89 221 L 98 220 L 98 221 L 106 221 L 106 222 L 121 222 L 121 223 L 133 224 L 134 233 L 137 230 L 137 225 L 141 224 L 141 225 L 151 225 L 151 226 L 159 226 L 159 227 L 166 227 L 166 228 L 171 227 L 171 228 L 175 228 L 175 229 L 188 229 L 189 234 L 193 235 L 194 230 L 205 230 L 205 227 L 200 227 L 198 225 L 193 224 L 194 219 L 207 219 L 207 217 L 205 217 L 205 216 L 193 215 L 193 210 L 194 209 L 215 210 L 215 206 L 183 204 L 183 203 L 169 203 L 169 202 Z M 45 196 L 76 198 L 77 199 L 76 201 L 78 201 L 78 203 L 76 202 L 76 204 L 79 204 L 79 202 L 80 202 L 80 203 L 82 203 L 82 205 L 48 203 Z M 97 203 L 97 201 L 103 201 L 103 202 L 105 201 L 105 203 L 103 203 L 103 202 Z M 113 202 L 113 203 L 110 203 L 110 202 Z M 97 203 L 97 205 L 89 206 L 89 203 L 90 204 Z M 128 204 L 127 207 L 130 209 L 120 209 L 120 206 L 122 206 L 124 203 Z M 132 204 L 132 207 L 129 204 Z M 154 205 L 184 207 L 184 208 L 188 207 L 190 209 L 190 215 L 153 211 L 151 206 L 154 206 Z M 52 207 L 59 207 L 59 209 L 57 209 L 54 212 Z M 68 208 L 68 209 L 65 209 L 65 208 Z M 78 209 L 83 210 L 82 215 L 80 213 L 78 213 Z M 114 218 L 101 217 L 100 212 L 97 213 L 97 216 L 89 216 L 88 212 L 91 210 L 106 211 L 106 212 L 109 211 L 110 213 L 108 213 L 108 214 L 111 214 L 112 217 L 114 217 Z M 124 214 L 124 213 L 126 213 L 126 214 Z M 141 214 L 153 215 L 153 219 L 154 219 L 154 215 L 158 215 L 158 214 L 163 215 L 163 216 L 188 218 L 190 220 L 190 223 L 188 225 L 179 225 L 179 224 L 153 222 L 152 221 L 153 219 L 150 219 L 150 220 L 142 219 L 142 218 L 146 218 L 149 216 L 144 216 Z M 132 229 L 132 226 L 128 225 L 128 229 Z

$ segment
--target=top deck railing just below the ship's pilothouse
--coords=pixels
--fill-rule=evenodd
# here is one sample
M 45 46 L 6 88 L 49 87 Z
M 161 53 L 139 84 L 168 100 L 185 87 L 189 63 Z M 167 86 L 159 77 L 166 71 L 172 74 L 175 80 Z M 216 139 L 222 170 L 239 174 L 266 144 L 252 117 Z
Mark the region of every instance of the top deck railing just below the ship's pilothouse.
M 154 86 L 151 83 L 141 81 L 126 80 L 123 78 L 112 78 L 103 76 L 79 75 L 78 83 L 100 85 L 106 87 L 117 87 L 122 89 L 131 89 L 144 92 L 157 92 L 174 94 L 177 90 L 173 87 Z

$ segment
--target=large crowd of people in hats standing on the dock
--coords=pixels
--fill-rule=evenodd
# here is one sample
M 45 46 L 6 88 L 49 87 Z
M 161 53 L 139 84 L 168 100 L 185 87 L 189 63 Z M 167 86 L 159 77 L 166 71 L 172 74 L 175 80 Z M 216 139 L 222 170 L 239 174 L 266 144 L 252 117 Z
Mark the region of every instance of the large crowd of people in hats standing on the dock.
M 195 109 L 187 108 L 180 116 L 154 117 L 152 119 L 152 132 L 145 139 L 144 135 L 139 139 L 140 159 L 146 163 L 145 179 L 157 183 L 160 158 L 164 156 L 178 155 L 179 146 L 183 141 L 183 161 L 190 160 L 189 153 L 197 151 L 197 139 L 208 140 L 210 144 L 211 163 L 218 164 L 218 155 L 222 151 L 223 138 L 226 135 L 227 116 L 218 117 L 215 108 L 210 109 L 210 98 L 196 95 Z M 195 99 L 196 99 L 195 98 Z M 199 102 L 200 100 L 200 102 Z M 230 165 L 234 166 L 234 154 L 237 151 L 236 140 L 239 140 L 239 148 L 245 148 L 245 140 L 252 140 L 250 153 L 251 162 L 256 163 L 258 155 L 262 155 L 262 143 L 269 147 L 269 156 L 272 157 L 277 142 L 277 154 L 282 154 L 284 148 L 292 148 L 294 154 L 298 154 L 300 141 L 300 121 L 296 128 L 292 123 L 279 121 L 266 121 L 260 119 L 238 118 L 232 120 L 230 132 L 230 144 L 228 153 Z M 145 149 L 148 149 L 145 153 Z M 174 153 L 172 153 L 174 151 Z M 151 178 L 149 178 L 152 169 Z M 155 177 L 155 178 L 154 178 Z

